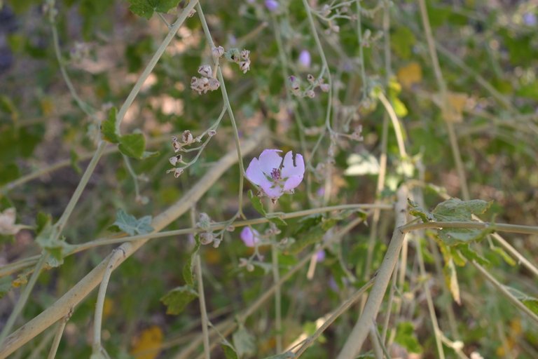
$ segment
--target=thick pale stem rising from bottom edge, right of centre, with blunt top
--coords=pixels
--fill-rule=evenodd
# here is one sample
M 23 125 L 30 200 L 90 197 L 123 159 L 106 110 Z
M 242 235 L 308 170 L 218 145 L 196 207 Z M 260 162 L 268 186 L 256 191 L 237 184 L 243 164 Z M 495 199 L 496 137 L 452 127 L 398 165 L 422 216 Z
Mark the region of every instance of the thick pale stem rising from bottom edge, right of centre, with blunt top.
M 340 351 L 338 354 L 338 359 L 351 359 L 357 356 L 361 350 L 364 340 L 366 339 L 366 336 L 368 335 L 371 323 L 378 315 L 381 302 L 383 297 L 385 297 L 385 291 L 387 290 L 390 277 L 394 271 L 396 262 L 398 262 L 403 239 L 406 236 L 406 233 L 401 231 L 400 227 L 406 222 L 407 192 L 407 188 L 402 186 L 396 193 L 398 197 L 398 201 L 394 206 L 396 226 L 394 228 L 394 233 L 392 234 L 392 239 L 390 240 L 387 252 L 385 252 L 385 257 L 383 258 L 380 269 L 378 269 L 378 275 L 376 276 L 375 283 L 373 284 L 372 290 L 368 295 L 368 300 L 366 301 L 366 306 L 364 306 L 364 311 L 359 317 L 359 320 L 357 320 L 357 323 L 355 323 L 349 337 L 347 337 L 342 351 Z

